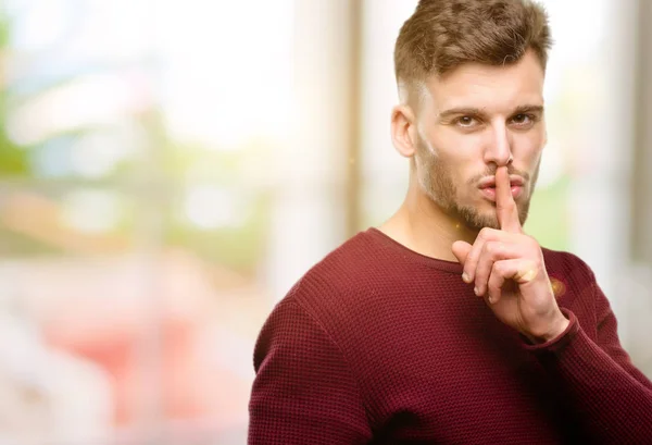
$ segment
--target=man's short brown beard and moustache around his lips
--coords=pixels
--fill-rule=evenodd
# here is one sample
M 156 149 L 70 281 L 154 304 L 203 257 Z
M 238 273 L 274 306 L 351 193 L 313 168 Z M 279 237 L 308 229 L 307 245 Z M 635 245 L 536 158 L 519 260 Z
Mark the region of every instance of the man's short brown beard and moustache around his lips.
M 484 227 L 500 228 L 496 210 L 481 212 L 478 206 L 460 202 L 451 169 L 422 137 L 418 137 L 415 162 L 417 164 L 415 165 L 416 175 L 422 190 L 447 214 L 472 231 L 479 231 Z M 511 164 L 507 168 L 509 174 L 521 175 L 525 181 L 524 185 L 530 185 L 528 190 L 524 190 L 527 191 L 527 195 L 523 194 L 516 200 L 521 225 L 525 224 L 527 220 L 530 198 L 539 176 L 539 166 L 540 161 L 537 163 L 531 182 L 528 181 L 530 176 L 528 173 L 518 171 Z M 474 189 L 481 177 L 491 175 L 496 175 L 496 166 L 472 177 L 464 186 Z M 492 202 L 492 206 L 496 209 L 496 202 Z

